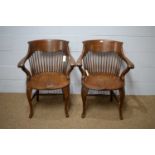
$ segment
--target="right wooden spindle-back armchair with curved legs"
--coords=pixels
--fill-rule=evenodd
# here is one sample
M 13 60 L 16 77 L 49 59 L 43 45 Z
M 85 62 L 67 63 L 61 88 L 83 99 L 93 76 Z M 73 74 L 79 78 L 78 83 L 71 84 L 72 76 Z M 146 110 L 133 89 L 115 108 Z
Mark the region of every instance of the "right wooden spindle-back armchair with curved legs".
M 121 71 L 122 60 L 127 64 L 123 71 Z M 82 74 L 83 112 L 81 117 L 84 118 L 86 115 L 86 97 L 89 89 L 108 90 L 111 100 L 114 90 L 119 90 L 119 117 L 123 119 L 125 75 L 134 68 L 134 64 L 123 52 L 123 43 L 112 40 L 83 41 L 83 52 L 77 60 L 77 66 Z

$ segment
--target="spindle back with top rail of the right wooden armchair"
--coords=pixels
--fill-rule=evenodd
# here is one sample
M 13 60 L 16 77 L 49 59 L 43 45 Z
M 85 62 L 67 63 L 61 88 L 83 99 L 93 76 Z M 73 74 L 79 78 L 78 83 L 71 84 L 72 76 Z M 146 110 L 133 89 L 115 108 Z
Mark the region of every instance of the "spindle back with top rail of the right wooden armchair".
M 88 40 L 83 42 L 83 66 L 89 73 L 119 75 L 122 64 L 122 42 Z

